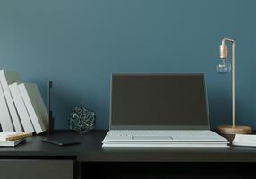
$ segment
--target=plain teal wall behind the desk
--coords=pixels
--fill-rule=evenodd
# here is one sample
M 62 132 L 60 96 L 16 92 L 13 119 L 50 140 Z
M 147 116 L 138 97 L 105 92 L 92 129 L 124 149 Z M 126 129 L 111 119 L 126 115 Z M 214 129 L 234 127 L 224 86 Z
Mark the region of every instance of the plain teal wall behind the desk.
M 111 72 L 204 72 L 212 127 L 231 123 L 231 78 L 215 72 L 221 38 L 236 40 L 237 124 L 256 129 L 256 1 L 0 2 L 0 68 L 54 81 L 56 128 L 88 105 L 108 127 Z

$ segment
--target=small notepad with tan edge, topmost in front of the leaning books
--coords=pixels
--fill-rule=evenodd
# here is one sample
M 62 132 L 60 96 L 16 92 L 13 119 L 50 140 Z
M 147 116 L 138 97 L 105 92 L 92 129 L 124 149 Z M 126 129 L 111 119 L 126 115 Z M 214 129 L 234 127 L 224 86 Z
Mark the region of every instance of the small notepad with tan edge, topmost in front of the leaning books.
M 30 136 L 31 132 L 0 132 L 0 141 L 16 141 Z

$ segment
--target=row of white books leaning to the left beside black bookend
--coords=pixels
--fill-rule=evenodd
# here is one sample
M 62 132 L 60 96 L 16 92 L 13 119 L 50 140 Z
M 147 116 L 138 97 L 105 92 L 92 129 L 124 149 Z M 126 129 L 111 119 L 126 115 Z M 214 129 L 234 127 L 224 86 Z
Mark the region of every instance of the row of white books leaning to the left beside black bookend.
M 0 70 L 0 124 L 3 132 L 47 131 L 48 113 L 38 86 L 22 83 L 18 72 Z

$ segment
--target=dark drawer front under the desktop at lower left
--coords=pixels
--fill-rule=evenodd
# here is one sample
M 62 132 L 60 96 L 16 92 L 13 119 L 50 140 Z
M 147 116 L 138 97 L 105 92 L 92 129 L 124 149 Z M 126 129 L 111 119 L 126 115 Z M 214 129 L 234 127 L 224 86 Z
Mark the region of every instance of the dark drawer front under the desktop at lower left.
M 2 179 L 73 179 L 73 160 L 0 160 Z

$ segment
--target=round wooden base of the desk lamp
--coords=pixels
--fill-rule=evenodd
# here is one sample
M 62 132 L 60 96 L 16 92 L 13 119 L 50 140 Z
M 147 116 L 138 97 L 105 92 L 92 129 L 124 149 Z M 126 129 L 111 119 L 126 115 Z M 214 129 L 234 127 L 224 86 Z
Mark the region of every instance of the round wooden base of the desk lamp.
M 218 125 L 215 132 L 220 134 L 247 134 L 252 132 L 252 128 L 244 125 Z

